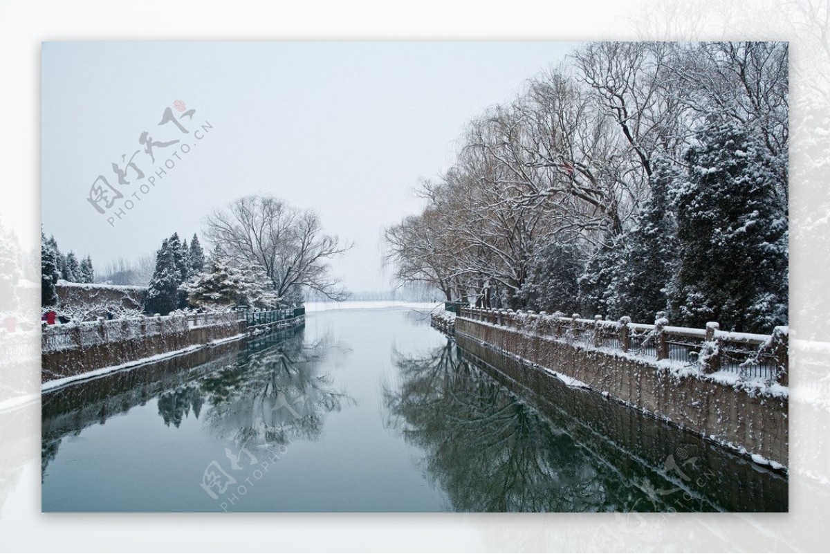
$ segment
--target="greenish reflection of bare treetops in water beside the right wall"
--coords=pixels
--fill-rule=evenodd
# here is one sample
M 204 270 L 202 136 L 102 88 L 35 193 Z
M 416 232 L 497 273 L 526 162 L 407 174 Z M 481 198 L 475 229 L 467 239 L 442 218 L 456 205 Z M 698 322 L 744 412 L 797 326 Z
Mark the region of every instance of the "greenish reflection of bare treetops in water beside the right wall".
M 426 357 L 395 352 L 395 364 L 401 381 L 397 391 L 384 391 L 388 424 L 426 452 L 427 474 L 455 510 L 628 511 L 650 504 L 564 429 L 467 362 L 452 340 Z

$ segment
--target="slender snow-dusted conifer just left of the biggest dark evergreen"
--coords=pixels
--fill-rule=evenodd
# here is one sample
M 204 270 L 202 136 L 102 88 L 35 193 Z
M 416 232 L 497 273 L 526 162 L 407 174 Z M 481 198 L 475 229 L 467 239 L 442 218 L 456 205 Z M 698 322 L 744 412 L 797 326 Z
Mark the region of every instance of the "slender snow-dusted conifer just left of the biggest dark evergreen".
M 633 321 L 651 323 L 666 309 L 666 286 L 677 267 L 676 221 L 669 192 L 676 171 L 666 159 L 652 160 L 651 194 L 625 233 L 615 272 L 619 314 Z

